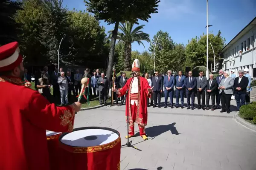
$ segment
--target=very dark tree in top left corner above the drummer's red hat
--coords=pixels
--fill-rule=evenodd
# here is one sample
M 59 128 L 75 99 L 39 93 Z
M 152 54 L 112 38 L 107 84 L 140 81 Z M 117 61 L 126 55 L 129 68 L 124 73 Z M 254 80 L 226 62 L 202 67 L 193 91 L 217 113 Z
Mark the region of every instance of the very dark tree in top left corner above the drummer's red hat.
M 18 41 L 21 25 L 15 22 L 15 14 L 22 9 L 21 4 L 12 0 L 0 1 L 0 45 Z

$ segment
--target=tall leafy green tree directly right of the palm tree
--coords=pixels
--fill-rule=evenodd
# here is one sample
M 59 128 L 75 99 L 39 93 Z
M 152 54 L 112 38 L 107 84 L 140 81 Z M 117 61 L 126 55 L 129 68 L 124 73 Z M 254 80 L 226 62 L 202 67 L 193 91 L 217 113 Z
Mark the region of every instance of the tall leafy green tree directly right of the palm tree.
M 159 36 L 158 40 L 157 37 Z M 168 32 L 158 31 L 154 35 L 152 44 L 149 47 L 152 58 L 154 58 L 154 44 L 157 41 L 155 48 L 155 69 L 156 71 L 166 72 L 168 69 L 173 69 L 175 65 L 175 57 L 173 56 L 173 49 L 175 43 L 169 36 Z

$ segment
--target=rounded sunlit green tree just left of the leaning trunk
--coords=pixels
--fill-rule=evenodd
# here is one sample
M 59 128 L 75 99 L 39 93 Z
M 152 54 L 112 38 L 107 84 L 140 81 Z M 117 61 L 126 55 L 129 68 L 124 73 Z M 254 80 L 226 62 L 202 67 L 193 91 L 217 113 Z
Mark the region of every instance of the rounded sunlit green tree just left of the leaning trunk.
M 102 60 L 100 57 L 104 52 L 106 34 L 105 28 L 99 26 L 99 21 L 87 12 L 68 11 L 68 23 L 72 54 L 69 62 L 79 64 Z

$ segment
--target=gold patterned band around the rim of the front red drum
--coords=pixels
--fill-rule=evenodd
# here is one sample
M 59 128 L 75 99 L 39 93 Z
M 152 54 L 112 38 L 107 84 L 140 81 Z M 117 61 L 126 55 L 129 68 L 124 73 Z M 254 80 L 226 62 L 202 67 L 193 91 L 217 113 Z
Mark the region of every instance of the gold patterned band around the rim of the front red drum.
M 92 153 L 92 152 L 98 152 L 98 151 L 102 151 L 102 150 L 107 150 L 110 149 L 114 146 L 116 146 L 116 144 L 121 142 L 121 138 L 119 137 L 118 139 L 116 139 L 115 141 L 108 143 L 108 144 L 103 144 L 100 146 L 93 146 L 93 147 L 72 147 L 73 153 Z

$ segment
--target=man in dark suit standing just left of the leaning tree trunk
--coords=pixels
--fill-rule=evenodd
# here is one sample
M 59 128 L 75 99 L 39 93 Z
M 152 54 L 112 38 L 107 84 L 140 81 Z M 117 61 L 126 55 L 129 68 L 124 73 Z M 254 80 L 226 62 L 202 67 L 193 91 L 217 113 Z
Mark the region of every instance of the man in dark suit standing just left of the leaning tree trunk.
M 109 88 L 109 82 L 107 77 L 105 77 L 105 74 L 102 73 L 101 77 L 98 78 L 98 88 L 97 90 L 99 91 L 99 103 L 102 105 L 102 100 L 104 102 L 104 105 L 107 105 L 107 91 Z

